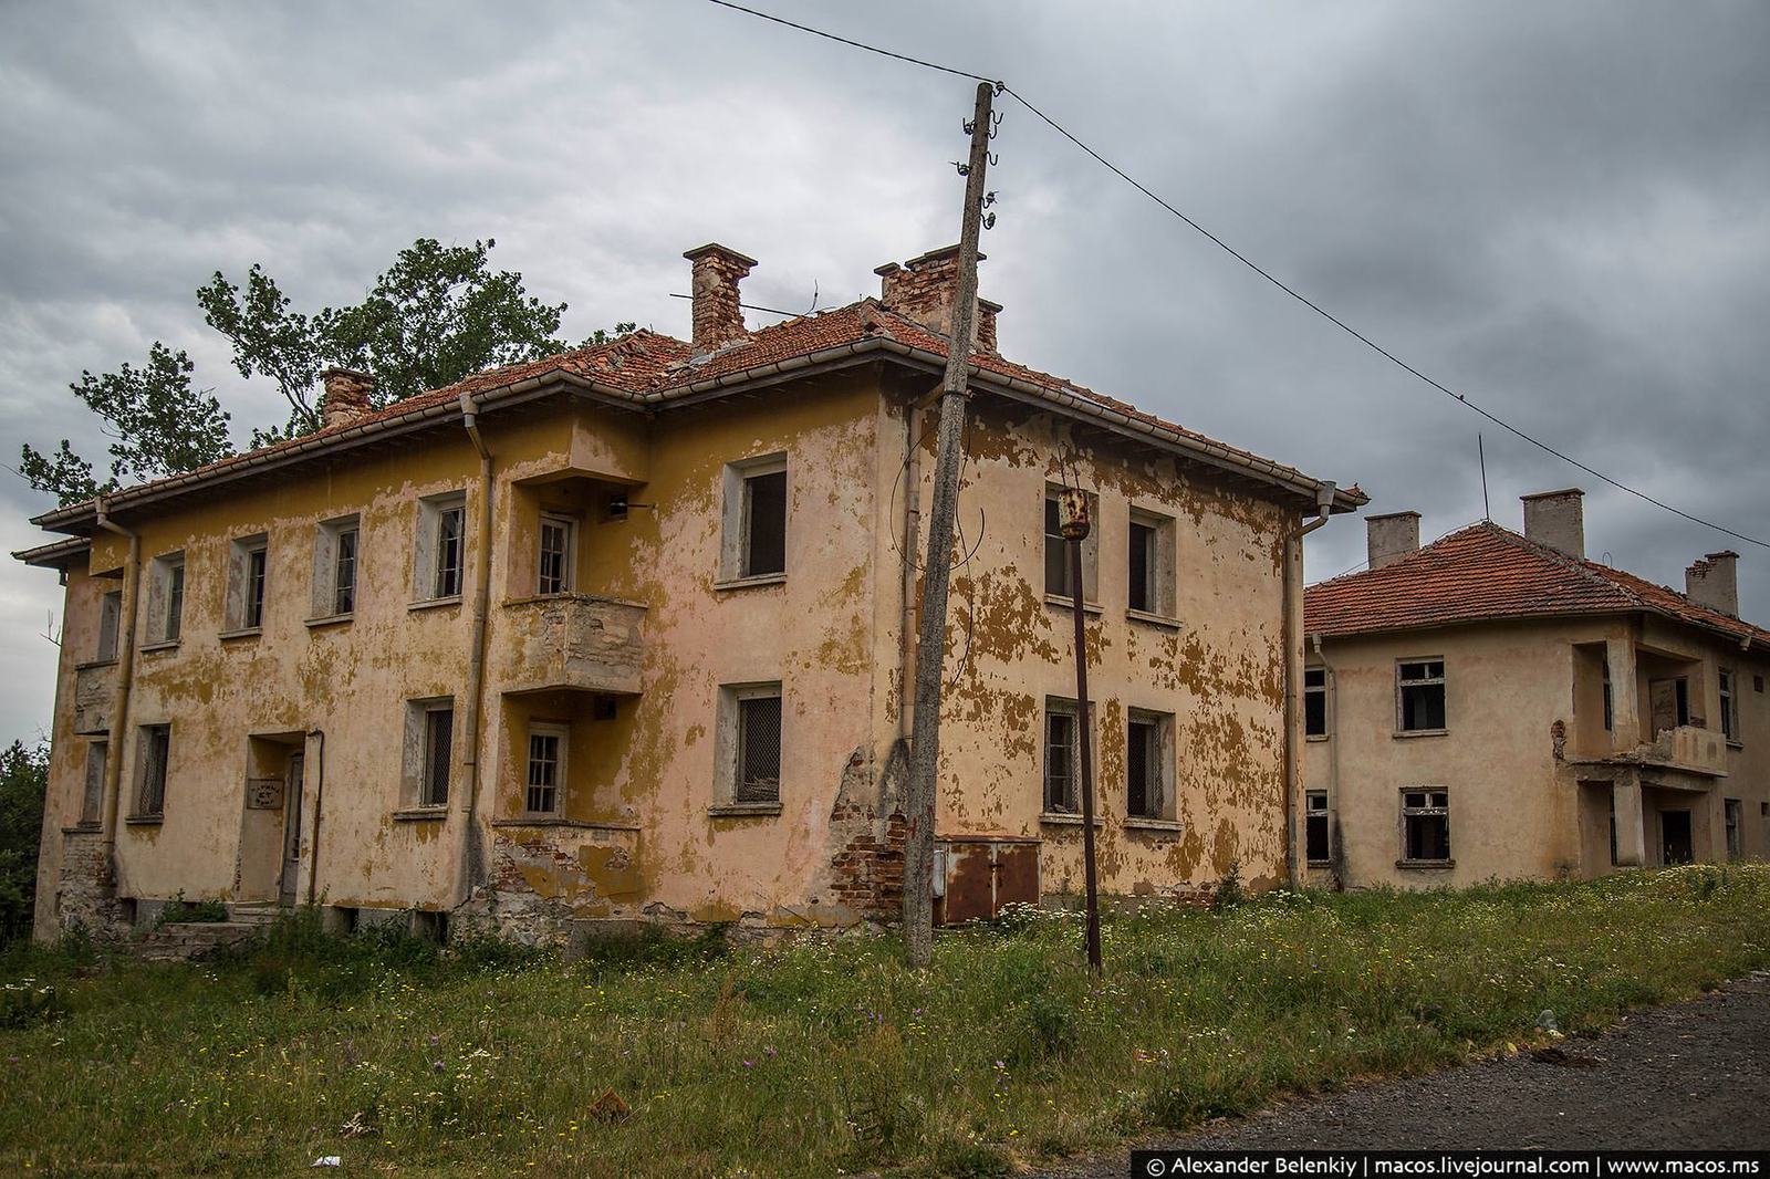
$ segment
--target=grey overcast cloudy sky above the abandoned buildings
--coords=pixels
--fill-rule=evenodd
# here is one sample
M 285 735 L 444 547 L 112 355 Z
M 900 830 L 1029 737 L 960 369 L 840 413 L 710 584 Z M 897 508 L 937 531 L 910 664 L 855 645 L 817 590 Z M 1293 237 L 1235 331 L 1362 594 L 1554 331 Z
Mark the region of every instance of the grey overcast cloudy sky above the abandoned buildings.
M 1696 515 L 1770 533 L 1770 5 L 807 4 L 1005 78 L 1189 216 L 1444 384 Z M 262 262 L 352 301 L 400 246 L 496 237 L 566 331 L 687 335 L 685 248 L 752 303 L 876 294 L 958 237 L 972 83 L 703 0 L 0 5 L 0 462 L 103 450 L 81 368 L 184 347 L 235 437 L 283 420 L 196 312 Z M 1682 586 L 1766 551 L 1554 460 L 1241 269 L 1011 99 L 982 292 L 1014 359 L 1361 483 L 1437 536 L 1582 485 L 1588 552 Z M 752 317 L 752 322 L 772 322 Z M 50 506 L 0 471 L 0 540 Z M 1310 540 L 1312 579 L 1363 522 Z M 0 565 L 0 736 L 48 726 L 55 575 Z

